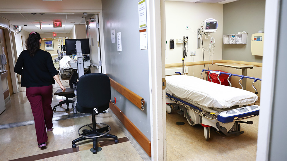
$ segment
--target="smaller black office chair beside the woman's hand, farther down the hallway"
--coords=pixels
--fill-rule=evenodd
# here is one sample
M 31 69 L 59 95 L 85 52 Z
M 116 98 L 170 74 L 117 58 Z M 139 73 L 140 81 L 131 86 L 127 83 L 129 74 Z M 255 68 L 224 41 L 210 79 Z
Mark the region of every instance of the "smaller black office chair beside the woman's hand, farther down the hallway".
M 60 101 L 59 104 L 54 105 L 53 110 L 56 111 L 56 107 L 60 106 L 62 107 L 62 104 L 67 105 L 67 108 L 65 109 L 65 111 L 69 111 L 69 103 L 73 103 L 73 100 L 69 100 L 69 98 L 74 98 L 76 97 L 74 94 L 74 87 L 73 87 L 73 83 L 77 82 L 78 80 L 78 73 L 77 72 L 72 72 L 71 77 L 69 79 L 69 85 L 70 88 L 66 88 L 66 91 L 62 91 L 62 89 L 58 89 L 54 95 L 58 95 L 58 96 L 63 96 L 66 97 L 66 100 L 64 101 Z M 74 114 L 76 114 L 77 112 L 74 110 Z

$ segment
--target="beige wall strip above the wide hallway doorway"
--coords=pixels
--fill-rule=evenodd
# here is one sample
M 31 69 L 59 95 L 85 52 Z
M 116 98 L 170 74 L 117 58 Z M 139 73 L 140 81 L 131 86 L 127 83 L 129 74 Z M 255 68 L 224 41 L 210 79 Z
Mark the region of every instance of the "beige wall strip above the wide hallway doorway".
M 33 9 L 32 9 L 33 8 Z M 0 12 L 11 12 L 11 11 L 38 11 L 49 10 L 53 12 L 65 11 L 65 10 L 101 10 L 101 0 L 62 0 L 62 1 L 41 1 L 41 0 L 14 0 L 0 2 Z

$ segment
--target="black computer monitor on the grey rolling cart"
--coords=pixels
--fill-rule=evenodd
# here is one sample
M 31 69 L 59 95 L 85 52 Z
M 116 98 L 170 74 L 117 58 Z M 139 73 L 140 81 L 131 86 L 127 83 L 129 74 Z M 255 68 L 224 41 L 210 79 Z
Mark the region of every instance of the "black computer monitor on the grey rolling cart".
M 90 53 L 90 41 L 89 39 L 65 39 L 66 44 L 66 55 L 74 55 L 77 54 L 76 50 L 76 41 L 81 41 L 82 53 L 89 54 Z

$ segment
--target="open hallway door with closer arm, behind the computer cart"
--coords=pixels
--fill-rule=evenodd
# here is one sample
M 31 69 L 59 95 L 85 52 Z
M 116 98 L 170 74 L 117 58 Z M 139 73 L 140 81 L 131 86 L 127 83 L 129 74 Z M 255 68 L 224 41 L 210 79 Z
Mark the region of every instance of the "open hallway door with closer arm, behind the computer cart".
M 88 15 L 89 16 L 89 15 Z M 86 17 L 88 17 L 86 16 Z M 87 25 L 87 34 L 90 39 L 90 61 L 93 67 L 91 67 L 91 73 L 102 73 L 102 59 L 100 51 L 100 34 L 99 34 L 99 19 L 98 14 L 95 14 L 89 18 L 94 18 L 94 22 L 89 22 L 90 19 L 86 19 L 89 22 Z M 88 23 L 87 22 L 87 23 Z

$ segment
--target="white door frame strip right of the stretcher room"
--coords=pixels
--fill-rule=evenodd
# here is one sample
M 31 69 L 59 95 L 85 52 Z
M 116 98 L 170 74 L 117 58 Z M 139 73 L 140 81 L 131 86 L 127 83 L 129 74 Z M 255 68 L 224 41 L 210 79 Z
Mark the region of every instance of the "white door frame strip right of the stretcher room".
M 280 16 L 280 0 L 266 0 L 264 20 L 264 46 L 260 115 L 257 136 L 257 161 L 269 160 L 272 108 L 274 100 L 277 39 Z

